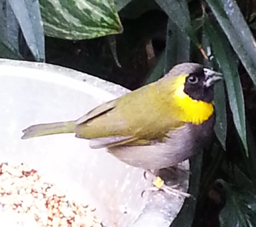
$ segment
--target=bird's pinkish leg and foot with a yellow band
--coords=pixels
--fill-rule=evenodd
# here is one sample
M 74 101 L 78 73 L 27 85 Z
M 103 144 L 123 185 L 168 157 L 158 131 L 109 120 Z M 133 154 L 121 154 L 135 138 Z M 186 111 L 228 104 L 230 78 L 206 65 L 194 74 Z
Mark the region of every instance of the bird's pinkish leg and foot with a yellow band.
M 154 185 L 154 187 L 149 187 L 146 190 L 150 190 L 150 191 L 163 190 L 164 192 L 166 192 L 169 195 L 174 195 L 174 196 L 178 196 L 178 197 L 184 196 L 184 197 L 188 198 L 190 196 L 189 193 L 178 190 L 177 189 L 178 185 L 167 186 L 160 176 L 156 176 L 150 170 L 147 170 L 144 172 L 144 177 L 146 179 L 150 179 L 152 181 L 152 184 Z M 143 195 L 143 193 L 144 193 L 144 191 L 142 192 L 142 195 Z

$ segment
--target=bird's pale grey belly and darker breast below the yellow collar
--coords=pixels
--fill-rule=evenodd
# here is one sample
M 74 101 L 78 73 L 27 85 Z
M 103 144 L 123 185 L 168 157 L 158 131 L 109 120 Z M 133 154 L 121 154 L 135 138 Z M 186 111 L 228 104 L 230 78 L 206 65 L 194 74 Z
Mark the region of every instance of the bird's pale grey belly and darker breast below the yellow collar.
M 215 116 L 201 125 L 187 123 L 171 131 L 165 141 L 152 141 L 148 146 L 118 146 L 109 153 L 119 160 L 143 169 L 162 169 L 189 159 L 211 140 Z

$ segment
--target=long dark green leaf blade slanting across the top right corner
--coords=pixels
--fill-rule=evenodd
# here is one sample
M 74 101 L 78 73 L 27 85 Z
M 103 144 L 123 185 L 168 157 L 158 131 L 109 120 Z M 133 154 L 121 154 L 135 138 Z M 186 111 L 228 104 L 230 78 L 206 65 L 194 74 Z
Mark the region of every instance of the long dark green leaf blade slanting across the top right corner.
M 256 84 L 256 41 L 235 0 L 206 0 Z

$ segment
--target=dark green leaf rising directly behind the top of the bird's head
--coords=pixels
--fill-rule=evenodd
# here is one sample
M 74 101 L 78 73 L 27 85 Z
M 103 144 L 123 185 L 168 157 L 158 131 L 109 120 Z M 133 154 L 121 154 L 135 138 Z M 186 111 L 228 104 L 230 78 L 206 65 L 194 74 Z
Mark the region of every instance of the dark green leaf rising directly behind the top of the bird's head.
M 164 74 L 176 64 L 189 61 L 190 40 L 187 34 L 168 20 Z

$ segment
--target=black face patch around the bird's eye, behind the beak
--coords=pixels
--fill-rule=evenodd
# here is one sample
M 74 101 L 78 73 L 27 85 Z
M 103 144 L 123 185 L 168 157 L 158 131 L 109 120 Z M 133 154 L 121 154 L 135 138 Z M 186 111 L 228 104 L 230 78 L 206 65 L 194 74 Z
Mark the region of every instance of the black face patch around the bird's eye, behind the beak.
M 214 86 L 206 87 L 204 81 L 205 74 L 202 68 L 189 73 L 185 81 L 184 92 L 192 99 L 211 103 L 214 97 Z

